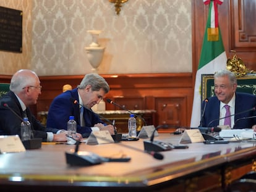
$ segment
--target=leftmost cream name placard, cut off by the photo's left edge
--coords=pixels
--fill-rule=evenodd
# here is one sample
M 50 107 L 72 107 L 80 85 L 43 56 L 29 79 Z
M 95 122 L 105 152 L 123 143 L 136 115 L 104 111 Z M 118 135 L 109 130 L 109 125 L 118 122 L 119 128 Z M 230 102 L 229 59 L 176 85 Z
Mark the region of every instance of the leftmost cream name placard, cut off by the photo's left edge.
M 23 152 L 26 151 L 19 135 L 0 136 L 0 152 Z

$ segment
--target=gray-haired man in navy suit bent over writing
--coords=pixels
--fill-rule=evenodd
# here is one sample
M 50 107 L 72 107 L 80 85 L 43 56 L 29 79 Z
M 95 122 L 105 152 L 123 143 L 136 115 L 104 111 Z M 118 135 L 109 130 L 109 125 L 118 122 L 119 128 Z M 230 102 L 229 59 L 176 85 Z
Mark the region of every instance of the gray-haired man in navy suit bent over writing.
M 88 137 L 92 130 L 108 130 L 114 135 L 113 125 L 106 125 L 91 110 L 108 91 L 109 85 L 103 77 L 96 73 L 85 75 L 77 88 L 65 91 L 53 99 L 48 111 L 47 127 L 66 128 L 69 116 L 73 115 L 77 122 L 77 132 L 83 137 Z

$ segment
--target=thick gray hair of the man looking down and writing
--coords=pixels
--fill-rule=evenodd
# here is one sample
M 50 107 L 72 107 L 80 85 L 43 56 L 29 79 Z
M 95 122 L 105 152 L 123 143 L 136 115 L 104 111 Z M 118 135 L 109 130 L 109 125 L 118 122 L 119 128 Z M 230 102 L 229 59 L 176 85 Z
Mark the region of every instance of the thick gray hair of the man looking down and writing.
M 89 73 L 85 75 L 77 88 L 84 89 L 87 85 L 92 86 L 92 91 L 99 91 L 101 88 L 105 91 L 105 93 L 108 93 L 109 91 L 109 85 L 106 80 L 96 73 Z

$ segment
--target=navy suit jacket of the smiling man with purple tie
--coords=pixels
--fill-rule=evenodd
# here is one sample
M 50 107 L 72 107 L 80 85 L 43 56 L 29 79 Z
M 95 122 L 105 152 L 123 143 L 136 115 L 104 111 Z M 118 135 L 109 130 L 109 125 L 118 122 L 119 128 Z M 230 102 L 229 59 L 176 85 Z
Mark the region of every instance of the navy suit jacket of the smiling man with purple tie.
M 205 102 L 202 102 L 202 107 L 205 106 Z M 252 128 L 252 125 L 256 124 L 256 118 L 241 119 L 243 117 L 252 117 L 255 114 L 256 97 L 247 93 L 236 93 L 235 101 L 235 114 L 234 115 L 234 128 Z M 252 109 L 249 111 L 249 109 Z M 244 112 L 247 111 L 247 112 Z M 241 113 L 241 114 L 239 114 Z M 232 114 L 231 114 L 232 115 Z M 220 119 L 220 101 L 216 96 L 208 99 L 205 107 L 205 113 L 202 118 L 202 127 L 216 127 L 219 125 Z M 237 120 L 241 119 L 241 120 Z

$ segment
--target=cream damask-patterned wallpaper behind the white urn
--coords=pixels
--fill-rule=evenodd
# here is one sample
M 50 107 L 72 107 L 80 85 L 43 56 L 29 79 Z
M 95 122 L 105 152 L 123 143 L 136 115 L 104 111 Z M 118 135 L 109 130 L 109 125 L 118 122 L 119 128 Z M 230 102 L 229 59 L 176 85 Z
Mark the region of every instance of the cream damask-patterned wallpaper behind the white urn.
M 41 76 L 90 73 L 87 30 L 103 30 L 98 73 L 192 71 L 190 0 L 129 0 L 119 15 L 108 0 L 0 0 L 0 6 L 24 12 L 24 51 L 0 52 L 0 61 L 9 63 L 0 73 L 22 67 Z

